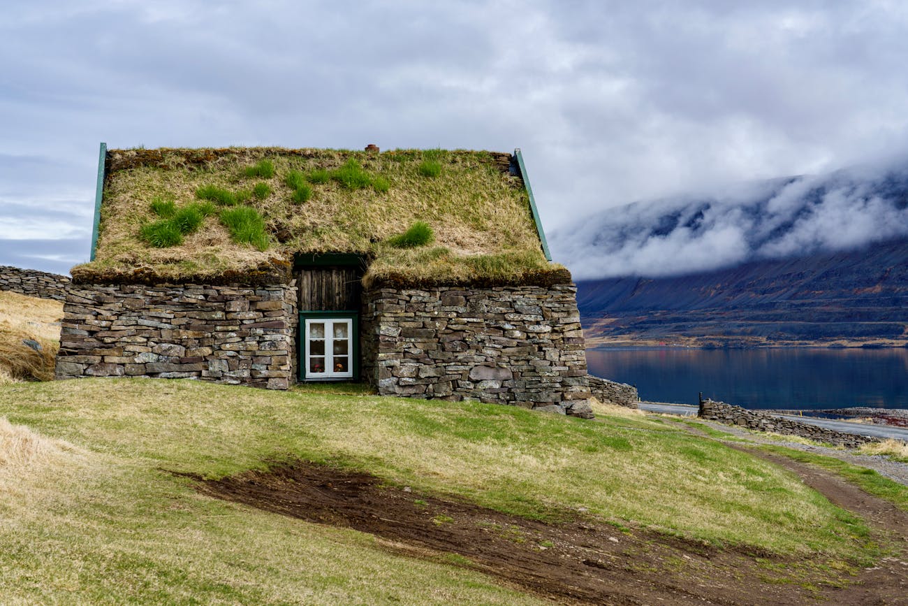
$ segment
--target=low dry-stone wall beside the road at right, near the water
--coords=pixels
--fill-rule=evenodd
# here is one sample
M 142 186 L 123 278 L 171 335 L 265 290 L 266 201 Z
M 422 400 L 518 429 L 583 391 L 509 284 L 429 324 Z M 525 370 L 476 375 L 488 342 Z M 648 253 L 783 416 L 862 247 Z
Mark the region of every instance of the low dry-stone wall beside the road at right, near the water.
M 740 425 L 757 432 L 799 435 L 817 442 L 828 442 L 849 448 L 856 448 L 867 442 L 879 442 L 876 438 L 855 433 L 834 432 L 810 423 L 792 421 L 766 412 L 748 411 L 740 406 L 732 406 L 725 402 L 714 402 L 712 400 L 700 402 L 699 416 L 707 421 L 722 422 L 726 425 Z

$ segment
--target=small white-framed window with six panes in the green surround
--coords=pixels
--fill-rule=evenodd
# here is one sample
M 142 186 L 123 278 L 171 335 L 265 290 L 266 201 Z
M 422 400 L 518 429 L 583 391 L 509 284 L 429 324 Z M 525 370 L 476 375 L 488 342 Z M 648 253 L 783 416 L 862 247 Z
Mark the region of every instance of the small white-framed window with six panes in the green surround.
M 344 379 L 353 376 L 353 321 L 306 320 L 306 379 Z

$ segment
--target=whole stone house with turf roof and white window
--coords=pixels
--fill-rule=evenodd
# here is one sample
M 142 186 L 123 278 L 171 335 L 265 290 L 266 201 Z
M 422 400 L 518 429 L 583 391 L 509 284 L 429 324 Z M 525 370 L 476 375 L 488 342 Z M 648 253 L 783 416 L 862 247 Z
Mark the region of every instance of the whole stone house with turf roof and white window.
M 589 416 L 576 288 L 519 150 L 101 145 L 57 378 L 197 378 Z

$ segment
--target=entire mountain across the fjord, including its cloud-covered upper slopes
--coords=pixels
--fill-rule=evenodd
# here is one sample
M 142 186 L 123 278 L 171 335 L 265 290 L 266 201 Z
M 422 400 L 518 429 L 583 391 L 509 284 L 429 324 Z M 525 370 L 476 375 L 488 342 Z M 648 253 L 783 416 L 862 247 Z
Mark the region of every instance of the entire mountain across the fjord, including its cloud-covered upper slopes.
M 908 343 L 908 163 L 629 204 L 552 240 L 593 344 Z

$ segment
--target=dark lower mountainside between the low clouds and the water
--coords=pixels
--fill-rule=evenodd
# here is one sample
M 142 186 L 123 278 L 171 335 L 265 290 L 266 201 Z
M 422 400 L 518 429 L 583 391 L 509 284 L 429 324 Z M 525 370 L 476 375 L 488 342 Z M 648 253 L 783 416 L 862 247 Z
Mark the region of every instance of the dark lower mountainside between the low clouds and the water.
M 662 278 L 577 282 L 587 343 L 908 343 L 908 240 Z

